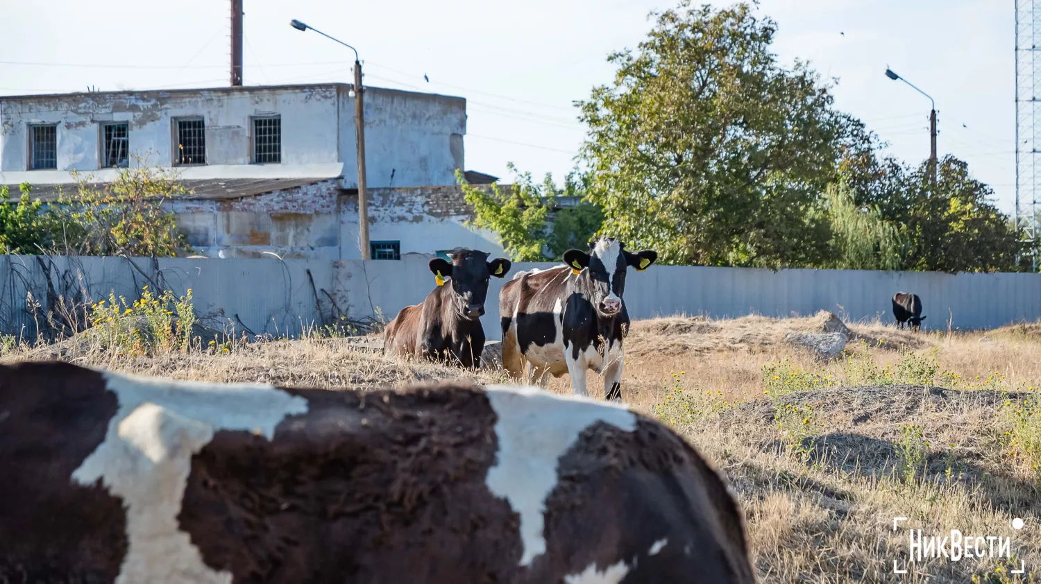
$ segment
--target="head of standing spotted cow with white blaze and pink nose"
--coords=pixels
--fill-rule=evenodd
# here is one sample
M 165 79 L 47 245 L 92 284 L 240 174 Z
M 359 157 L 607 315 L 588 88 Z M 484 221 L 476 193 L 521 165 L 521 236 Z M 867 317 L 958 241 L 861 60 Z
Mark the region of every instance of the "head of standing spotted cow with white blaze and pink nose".
M 564 252 L 564 263 L 580 278 L 587 278 L 591 283 L 589 302 L 603 316 L 614 316 L 621 311 L 627 266 L 632 265 L 642 272 L 658 259 L 658 252 L 654 250 L 630 253 L 625 247 L 614 237 L 600 237 L 589 244 L 589 253 L 579 250 Z

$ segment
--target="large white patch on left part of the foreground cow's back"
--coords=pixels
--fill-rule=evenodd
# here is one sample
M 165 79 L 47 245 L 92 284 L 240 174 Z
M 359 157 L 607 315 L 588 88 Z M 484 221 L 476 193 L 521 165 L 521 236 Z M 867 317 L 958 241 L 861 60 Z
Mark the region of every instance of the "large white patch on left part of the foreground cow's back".
M 117 584 L 230 584 L 231 574 L 206 566 L 188 535 L 178 529 L 192 456 L 220 430 L 271 439 L 285 416 L 307 413 L 307 401 L 271 385 L 101 373 L 119 410 L 105 440 L 72 479 L 82 485 L 101 480 L 126 507 L 129 545 Z

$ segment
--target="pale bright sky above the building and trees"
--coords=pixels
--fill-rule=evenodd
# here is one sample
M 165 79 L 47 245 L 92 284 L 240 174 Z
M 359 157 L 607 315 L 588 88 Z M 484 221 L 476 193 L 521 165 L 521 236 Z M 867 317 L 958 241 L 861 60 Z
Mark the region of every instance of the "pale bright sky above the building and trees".
M 575 100 L 610 83 L 607 55 L 636 48 L 652 10 L 678 0 L 244 0 L 245 83 L 351 82 L 465 97 L 467 170 L 509 178 L 507 162 L 558 179 L 585 135 Z M 711 2 L 725 6 L 732 2 Z M 228 84 L 227 0 L 0 0 L 0 95 Z M 1012 212 L 1015 198 L 1011 0 L 762 0 L 782 64 L 838 78 L 835 106 L 863 120 L 908 162 L 938 151 L 967 160 Z M 424 79 L 424 75 L 429 81 Z

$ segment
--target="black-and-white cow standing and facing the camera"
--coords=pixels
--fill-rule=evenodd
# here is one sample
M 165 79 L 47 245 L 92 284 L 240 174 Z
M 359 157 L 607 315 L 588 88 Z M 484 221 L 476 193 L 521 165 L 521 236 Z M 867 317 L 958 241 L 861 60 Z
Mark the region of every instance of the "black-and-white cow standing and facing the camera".
M 646 270 L 658 252 L 630 253 L 613 237 L 600 237 L 589 253 L 567 250 L 563 265 L 522 272 L 503 286 L 499 313 L 503 329 L 503 367 L 515 379 L 524 362 L 540 385 L 549 375 L 572 379 L 573 391 L 588 396 L 586 372 L 604 375 L 604 397 L 621 399 L 629 313 L 621 296 L 626 272 Z

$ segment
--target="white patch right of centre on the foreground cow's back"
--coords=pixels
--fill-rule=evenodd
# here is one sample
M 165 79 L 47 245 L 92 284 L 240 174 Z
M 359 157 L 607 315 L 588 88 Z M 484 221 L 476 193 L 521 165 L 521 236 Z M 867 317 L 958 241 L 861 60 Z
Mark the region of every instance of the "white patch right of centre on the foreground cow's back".
M 536 387 L 488 385 L 499 441 L 496 465 L 488 469 L 488 490 L 509 502 L 520 515 L 523 554 L 530 565 L 545 553 L 542 513 L 557 485 L 557 463 L 579 434 L 596 422 L 632 432 L 636 416 L 624 406 L 555 396 Z

